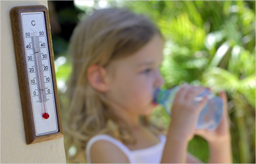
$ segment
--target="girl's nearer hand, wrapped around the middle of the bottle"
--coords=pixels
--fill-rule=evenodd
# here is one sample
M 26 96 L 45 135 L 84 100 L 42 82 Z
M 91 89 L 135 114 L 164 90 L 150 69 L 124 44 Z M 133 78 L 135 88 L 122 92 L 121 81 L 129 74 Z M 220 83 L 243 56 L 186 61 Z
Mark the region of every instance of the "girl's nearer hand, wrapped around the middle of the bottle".
M 203 87 L 185 84 L 177 92 L 171 108 L 171 135 L 186 141 L 194 137 L 199 113 L 207 103 L 207 97 L 194 103 L 194 98 L 202 91 Z

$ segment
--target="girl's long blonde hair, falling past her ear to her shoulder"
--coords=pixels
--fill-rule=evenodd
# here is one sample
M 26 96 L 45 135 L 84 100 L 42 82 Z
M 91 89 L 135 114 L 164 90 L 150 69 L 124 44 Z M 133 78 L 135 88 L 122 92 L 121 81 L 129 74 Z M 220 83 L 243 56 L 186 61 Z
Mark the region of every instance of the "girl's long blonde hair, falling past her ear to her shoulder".
M 129 129 L 117 124 L 118 118 L 110 112 L 103 94 L 89 84 L 87 69 L 92 65 L 106 67 L 113 60 L 133 54 L 154 35 L 161 33 L 148 18 L 117 8 L 96 10 L 75 28 L 70 40 L 73 68 L 68 84 L 69 115 L 64 126 L 67 154 L 74 145 L 85 156 L 87 141 L 102 133 L 123 143 L 134 143 Z M 142 117 L 142 121 L 153 132 L 160 132 L 148 117 Z

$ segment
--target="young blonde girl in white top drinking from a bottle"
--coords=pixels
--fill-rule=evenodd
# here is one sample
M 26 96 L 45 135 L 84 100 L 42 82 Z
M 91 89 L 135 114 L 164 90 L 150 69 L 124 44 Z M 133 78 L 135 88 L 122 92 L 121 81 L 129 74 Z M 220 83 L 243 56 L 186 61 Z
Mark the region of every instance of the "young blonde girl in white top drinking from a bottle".
M 125 9 L 95 11 L 76 27 L 65 136 L 88 163 L 200 163 L 187 153 L 195 134 L 208 141 L 210 163 L 232 162 L 224 92 L 215 131 L 195 130 L 207 98 L 193 104 L 203 87 L 188 84 L 174 99 L 167 135 L 150 122 L 154 90 L 164 83 L 163 40 L 146 17 Z

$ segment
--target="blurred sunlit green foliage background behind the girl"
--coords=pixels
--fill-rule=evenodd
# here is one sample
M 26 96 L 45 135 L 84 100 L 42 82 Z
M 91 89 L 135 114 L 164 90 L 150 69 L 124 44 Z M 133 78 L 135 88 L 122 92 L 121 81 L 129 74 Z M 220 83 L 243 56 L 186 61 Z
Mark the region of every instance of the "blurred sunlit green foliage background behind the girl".
M 164 88 L 188 82 L 227 92 L 233 162 L 255 163 L 255 1 L 79 0 L 48 1 L 48 7 L 63 122 L 71 72 L 68 42 L 76 24 L 95 9 L 126 7 L 151 18 L 166 38 Z M 169 125 L 161 107 L 152 117 L 159 118 Z M 188 149 L 208 161 L 208 146 L 201 137 L 191 140 Z M 68 151 L 67 163 L 75 151 Z

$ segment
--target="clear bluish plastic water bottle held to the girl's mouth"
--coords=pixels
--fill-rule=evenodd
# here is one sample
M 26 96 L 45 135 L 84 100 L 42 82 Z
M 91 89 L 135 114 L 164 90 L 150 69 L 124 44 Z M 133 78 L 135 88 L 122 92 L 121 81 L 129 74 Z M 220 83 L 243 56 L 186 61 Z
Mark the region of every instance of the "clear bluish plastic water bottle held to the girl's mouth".
M 161 90 L 158 88 L 154 93 L 154 101 L 163 105 L 169 115 L 171 113 L 173 100 L 179 89 L 180 86 L 169 90 Z M 204 89 L 201 94 L 195 97 L 194 102 L 203 100 L 204 95 L 207 95 L 208 102 L 199 114 L 196 129 L 214 130 L 217 128 L 222 118 L 223 102 L 220 97 L 215 96 L 208 89 Z

